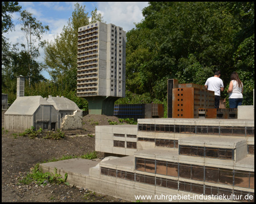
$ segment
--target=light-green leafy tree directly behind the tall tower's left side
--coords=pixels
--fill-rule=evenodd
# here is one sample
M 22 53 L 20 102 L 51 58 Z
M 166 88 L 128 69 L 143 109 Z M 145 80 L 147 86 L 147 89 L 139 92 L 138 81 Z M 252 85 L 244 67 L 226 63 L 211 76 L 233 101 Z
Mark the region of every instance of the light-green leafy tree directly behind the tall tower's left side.
M 68 25 L 64 26 L 59 36 L 51 42 L 47 42 L 44 48 L 45 62 L 48 66 L 49 75 L 61 86 L 68 87 L 69 90 L 76 89 L 77 74 L 77 36 L 78 29 L 89 23 L 103 20 L 101 14 L 97 14 L 97 8 L 91 12 L 92 19 L 89 21 L 88 12 L 85 6 L 76 3 L 72 17 L 68 20 Z

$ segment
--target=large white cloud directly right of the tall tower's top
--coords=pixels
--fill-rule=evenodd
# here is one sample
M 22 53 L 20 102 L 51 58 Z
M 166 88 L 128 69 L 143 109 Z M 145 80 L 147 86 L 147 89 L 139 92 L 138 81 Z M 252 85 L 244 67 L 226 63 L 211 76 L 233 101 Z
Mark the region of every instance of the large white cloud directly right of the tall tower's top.
M 98 2 L 98 11 L 106 23 L 113 23 L 129 31 L 134 28 L 134 23 L 143 19 L 142 9 L 148 2 Z

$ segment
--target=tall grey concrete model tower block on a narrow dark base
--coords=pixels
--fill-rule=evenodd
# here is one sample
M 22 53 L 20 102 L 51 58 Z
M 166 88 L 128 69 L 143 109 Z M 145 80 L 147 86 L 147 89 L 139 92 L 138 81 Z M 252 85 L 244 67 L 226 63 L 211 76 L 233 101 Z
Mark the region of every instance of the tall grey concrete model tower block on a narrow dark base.
M 126 32 L 101 22 L 80 27 L 77 42 L 77 96 L 89 114 L 113 115 L 114 101 L 125 97 Z

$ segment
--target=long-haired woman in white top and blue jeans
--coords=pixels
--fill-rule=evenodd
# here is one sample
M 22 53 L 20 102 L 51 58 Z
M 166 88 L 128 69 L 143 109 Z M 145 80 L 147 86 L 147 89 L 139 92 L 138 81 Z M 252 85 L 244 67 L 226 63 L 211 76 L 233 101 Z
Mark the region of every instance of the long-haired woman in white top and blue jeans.
M 234 71 L 230 76 L 229 83 L 229 108 L 237 108 L 243 101 L 243 83 L 238 74 Z

